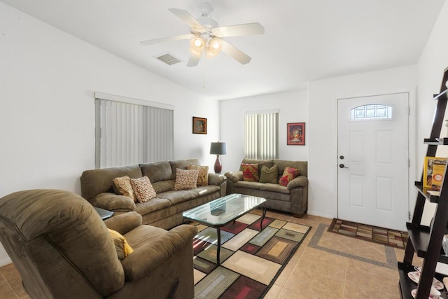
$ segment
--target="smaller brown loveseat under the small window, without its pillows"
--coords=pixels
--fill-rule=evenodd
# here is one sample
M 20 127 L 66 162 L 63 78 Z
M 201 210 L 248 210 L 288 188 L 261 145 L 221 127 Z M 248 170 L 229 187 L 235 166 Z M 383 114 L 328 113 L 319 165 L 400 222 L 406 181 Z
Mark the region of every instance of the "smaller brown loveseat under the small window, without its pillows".
M 228 178 L 227 194 L 241 193 L 264 197 L 266 206 L 269 209 L 288 211 L 295 217 L 302 218 L 308 207 L 308 162 L 288 161 L 288 160 L 253 160 L 243 159 L 244 164 L 258 164 L 258 174 L 262 166 L 268 168 L 277 166 L 279 169 L 277 183 L 260 183 L 258 181 L 244 181 L 241 166 L 239 171 L 226 172 Z M 281 186 L 278 181 L 284 169 L 289 166 L 299 169 L 299 176 L 288 183 L 288 186 Z

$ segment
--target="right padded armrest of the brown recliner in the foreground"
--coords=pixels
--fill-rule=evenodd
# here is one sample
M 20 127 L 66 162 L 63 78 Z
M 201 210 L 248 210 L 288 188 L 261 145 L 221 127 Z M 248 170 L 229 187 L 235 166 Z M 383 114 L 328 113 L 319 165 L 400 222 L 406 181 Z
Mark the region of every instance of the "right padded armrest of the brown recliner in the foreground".
M 123 261 L 125 279 L 135 281 L 162 265 L 170 257 L 181 251 L 185 246 L 193 246 L 193 237 L 197 234 L 197 228 L 193 225 L 183 224 L 157 239 L 151 239 L 138 249 L 134 250 Z

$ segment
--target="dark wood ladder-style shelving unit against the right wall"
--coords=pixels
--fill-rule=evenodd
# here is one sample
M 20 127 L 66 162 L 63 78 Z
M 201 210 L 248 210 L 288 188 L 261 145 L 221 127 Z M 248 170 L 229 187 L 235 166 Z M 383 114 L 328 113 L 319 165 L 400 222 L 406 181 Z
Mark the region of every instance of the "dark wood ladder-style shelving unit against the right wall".
M 437 153 L 437 146 L 448 145 L 448 138 L 440 137 L 442 125 L 444 122 L 445 111 L 447 109 L 447 86 L 448 68 L 444 70 L 442 78 L 442 86 L 440 93 L 435 95 L 433 99 L 437 100 L 437 108 L 435 109 L 435 116 L 433 120 L 433 128 L 430 137 L 424 139 L 424 144 L 428 145 L 426 156 L 435 157 Z M 416 299 L 427 299 L 429 297 L 430 288 L 433 284 L 434 277 L 442 281 L 443 274 L 436 273 L 435 268 L 437 263 L 448 264 L 448 257 L 444 256 L 442 249 L 443 235 L 447 233 L 448 224 L 448 176 L 447 168 L 445 168 L 444 179 L 440 188 L 440 194 L 431 195 L 428 193 L 428 188 L 423 188 L 423 174 L 420 181 L 415 182 L 415 187 L 419 191 L 417 193 L 414 214 L 412 221 L 406 223 L 409 239 L 405 249 L 405 257 L 403 262 L 398 262 L 398 272 L 400 274 L 399 288 L 401 298 L 412 299 L 411 291 L 416 289 Z M 425 202 L 432 202 L 436 204 L 435 214 L 429 226 L 421 225 L 421 218 L 423 216 L 423 208 Z M 407 273 L 415 271 L 412 265 L 414 253 L 423 258 L 423 265 L 421 267 L 421 275 L 419 284 L 409 279 Z M 444 288 L 441 298 L 448 299 L 448 291 Z

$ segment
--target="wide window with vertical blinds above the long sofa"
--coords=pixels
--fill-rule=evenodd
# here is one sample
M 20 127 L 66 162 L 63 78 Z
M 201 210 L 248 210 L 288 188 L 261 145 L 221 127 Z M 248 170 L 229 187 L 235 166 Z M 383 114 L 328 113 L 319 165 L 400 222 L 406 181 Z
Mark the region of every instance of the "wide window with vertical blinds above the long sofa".
M 95 92 L 95 167 L 174 158 L 174 106 Z

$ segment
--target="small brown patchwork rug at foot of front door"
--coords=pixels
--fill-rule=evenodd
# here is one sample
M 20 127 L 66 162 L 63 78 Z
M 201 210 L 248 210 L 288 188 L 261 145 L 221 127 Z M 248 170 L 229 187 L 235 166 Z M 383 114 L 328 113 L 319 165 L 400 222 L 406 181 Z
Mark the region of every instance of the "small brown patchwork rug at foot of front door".
M 408 238 L 407 232 L 389 230 L 388 228 L 379 228 L 337 218 L 333 219 L 328 231 L 401 249 L 406 248 Z

